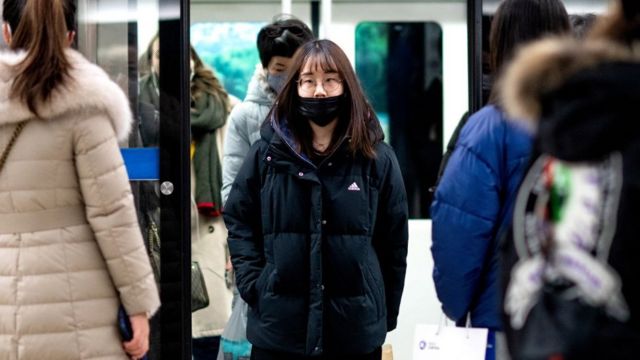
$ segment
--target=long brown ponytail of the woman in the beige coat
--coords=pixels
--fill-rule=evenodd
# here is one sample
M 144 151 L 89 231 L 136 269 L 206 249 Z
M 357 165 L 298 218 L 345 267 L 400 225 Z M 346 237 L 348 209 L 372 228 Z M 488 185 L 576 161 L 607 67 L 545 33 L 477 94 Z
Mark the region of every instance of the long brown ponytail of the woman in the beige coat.
M 11 27 L 11 49 L 23 49 L 11 96 L 23 101 L 38 116 L 38 104 L 49 100 L 69 78 L 65 56 L 67 33 L 73 31 L 72 0 L 4 0 L 2 18 Z

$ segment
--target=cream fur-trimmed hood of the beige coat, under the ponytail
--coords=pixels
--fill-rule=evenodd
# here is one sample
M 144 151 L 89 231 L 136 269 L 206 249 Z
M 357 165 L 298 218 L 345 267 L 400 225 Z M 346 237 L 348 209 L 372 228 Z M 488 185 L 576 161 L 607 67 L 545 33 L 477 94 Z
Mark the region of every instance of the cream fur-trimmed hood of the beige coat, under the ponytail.
M 105 112 L 118 140 L 124 140 L 131 129 L 132 115 L 129 100 L 107 73 L 90 63 L 79 52 L 68 49 L 71 63 L 65 86 L 58 87 L 48 102 L 38 105 L 43 119 L 50 120 L 67 112 Z M 33 118 L 34 115 L 9 92 L 16 76 L 15 65 L 25 57 L 24 52 L 0 52 L 0 125 Z

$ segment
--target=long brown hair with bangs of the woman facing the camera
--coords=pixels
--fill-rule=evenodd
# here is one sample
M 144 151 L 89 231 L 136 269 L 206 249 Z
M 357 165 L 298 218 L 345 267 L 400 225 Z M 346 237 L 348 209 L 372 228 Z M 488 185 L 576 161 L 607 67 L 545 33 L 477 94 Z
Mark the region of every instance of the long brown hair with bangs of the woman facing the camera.
M 337 139 L 348 136 L 349 150 L 353 155 L 360 153 L 365 157 L 374 158 L 375 145 L 384 138 L 382 128 L 360 87 L 360 82 L 347 55 L 330 40 L 310 41 L 296 51 L 291 61 L 286 85 L 278 95 L 276 104 L 271 110 L 272 113 L 277 119 L 286 119 L 289 129 L 301 147 L 300 150 L 311 154 L 313 151 L 311 126 L 306 119 L 298 115 L 297 111 L 300 99 L 297 80 L 307 63 L 312 68 L 335 72 L 342 79 L 344 108 L 333 133 L 329 151 L 336 146 Z M 271 116 L 267 117 L 267 120 L 270 118 Z

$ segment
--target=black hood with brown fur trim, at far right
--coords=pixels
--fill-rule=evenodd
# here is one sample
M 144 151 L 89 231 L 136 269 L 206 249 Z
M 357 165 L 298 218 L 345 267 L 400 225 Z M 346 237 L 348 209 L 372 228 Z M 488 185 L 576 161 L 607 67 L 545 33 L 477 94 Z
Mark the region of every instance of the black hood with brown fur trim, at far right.
M 499 86 L 510 117 L 537 129 L 541 151 L 584 161 L 637 137 L 639 78 L 640 57 L 629 48 L 555 39 L 526 47 Z

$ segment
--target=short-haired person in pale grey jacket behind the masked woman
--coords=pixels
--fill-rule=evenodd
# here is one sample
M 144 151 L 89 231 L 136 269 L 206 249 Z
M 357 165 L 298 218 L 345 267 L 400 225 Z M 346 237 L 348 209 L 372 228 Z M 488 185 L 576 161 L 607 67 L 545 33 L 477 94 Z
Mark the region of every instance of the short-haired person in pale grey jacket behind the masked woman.
M 260 124 L 284 86 L 293 53 L 312 39 L 311 29 L 291 15 L 277 17 L 258 32 L 256 43 L 260 64 L 256 66 L 246 98 L 229 117 L 224 149 L 223 201 L 229 196 L 231 184 L 249 148 L 260 139 Z

